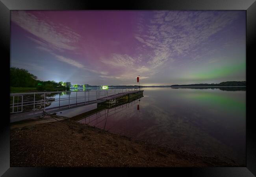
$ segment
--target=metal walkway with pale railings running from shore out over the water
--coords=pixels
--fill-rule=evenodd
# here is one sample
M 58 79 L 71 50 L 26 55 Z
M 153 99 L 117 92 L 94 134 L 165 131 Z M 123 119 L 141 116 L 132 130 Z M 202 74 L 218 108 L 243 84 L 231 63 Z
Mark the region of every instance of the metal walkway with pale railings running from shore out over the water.
M 64 111 L 67 109 L 72 109 L 72 108 L 81 107 L 85 105 L 102 103 L 108 100 L 113 100 L 121 96 L 134 94 L 141 91 L 143 90 L 111 89 L 111 90 L 88 90 L 88 91 L 63 91 L 64 93 L 68 94 L 69 96 L 68 98 L 61 98 L 61 94 L 63 94 L 63 92 L 32 92 L 32 93 L 10 94 L 10 98 L 11 98 L 10 99 L 11 100 L 10 122 L 17 122 L 17 121 L 26 120 L 32 117 L 42 116 L 44 111 L 50 114 L 50 113 Z M 52 94 L 54 94 L 55 97 L 56 95 L 58 95 L 59 98 L 47 98 L 47 97 L 51 97 Z M 70 97 L 70 95 L 75 95 L 75 96 Z M 39 100 L 37 100 L 36 98 L 39 98 Z M 81 102 L 81 100 L 83 101 Z M 50 105 L 47 108 L 46 104 L 48 103 L 51 103 L 53 105 Z M 55 103 L 55 106 L 54 106 L 54 103 Z M 40 107 L 41 109 L 36 109 L 38 105 L 39 107 L 41 106 Z M 43 108 L 42 108 L 42 105 L 43 105 Z M 24 108 L 26 109 L 24 110 Z

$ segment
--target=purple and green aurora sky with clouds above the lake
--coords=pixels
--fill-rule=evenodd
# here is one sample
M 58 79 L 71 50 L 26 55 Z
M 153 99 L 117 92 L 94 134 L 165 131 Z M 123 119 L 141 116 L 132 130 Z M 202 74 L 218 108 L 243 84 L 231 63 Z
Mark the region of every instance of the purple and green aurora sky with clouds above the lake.
M 10 66 L 89 85 L 245 81 L 245 11 L 11 11 Z

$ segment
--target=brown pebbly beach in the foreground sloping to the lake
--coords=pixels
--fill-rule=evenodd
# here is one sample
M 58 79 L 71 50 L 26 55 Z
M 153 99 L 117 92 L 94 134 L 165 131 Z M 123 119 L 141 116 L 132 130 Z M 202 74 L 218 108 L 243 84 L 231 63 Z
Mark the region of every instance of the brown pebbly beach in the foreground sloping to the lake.
M 58 116 L 55 116 L 56 118 Z M 60 117 L 59 117 L 60 118 Z M 11 167 L 234 167 L 232 159 L 200 156 L 136 141 L 70 118 L 10 130 Z

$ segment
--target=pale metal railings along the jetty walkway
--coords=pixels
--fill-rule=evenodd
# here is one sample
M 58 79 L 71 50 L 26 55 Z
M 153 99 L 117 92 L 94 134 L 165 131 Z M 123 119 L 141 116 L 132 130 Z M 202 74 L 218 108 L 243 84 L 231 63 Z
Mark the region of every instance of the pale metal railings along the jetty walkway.
M 137 88 L 128 89 L 109 89 L 109 90 L 85 90 L 85 91 L 55 91 L 55 92 L 27 92 L 10 94 L 10 113 L 35 111 L 61 106 L 78 105 L 90 103 L 98 99 L 108 98 L 108 96 L 117 94 L 126 94 L 127 92 L 136 91 Z M 68 96 L 61 98 L 61 96 Z M 52 98 L 54 96 L 54 98 Z M 50 103 L 50 105 L 49 105 Z

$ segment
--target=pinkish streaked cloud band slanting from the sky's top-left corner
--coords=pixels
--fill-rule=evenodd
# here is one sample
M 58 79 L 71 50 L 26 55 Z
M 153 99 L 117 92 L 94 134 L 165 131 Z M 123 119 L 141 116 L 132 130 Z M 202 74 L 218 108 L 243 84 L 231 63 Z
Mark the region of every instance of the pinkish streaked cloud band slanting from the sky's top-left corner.
M 67 26 L 39 19 L 27 11 L 11 11 L 11 21 L 40 39 L 37 43 L 46 45 L 46 48 L 59 51 L 78 48 L 75 43 L 81 36 Z

